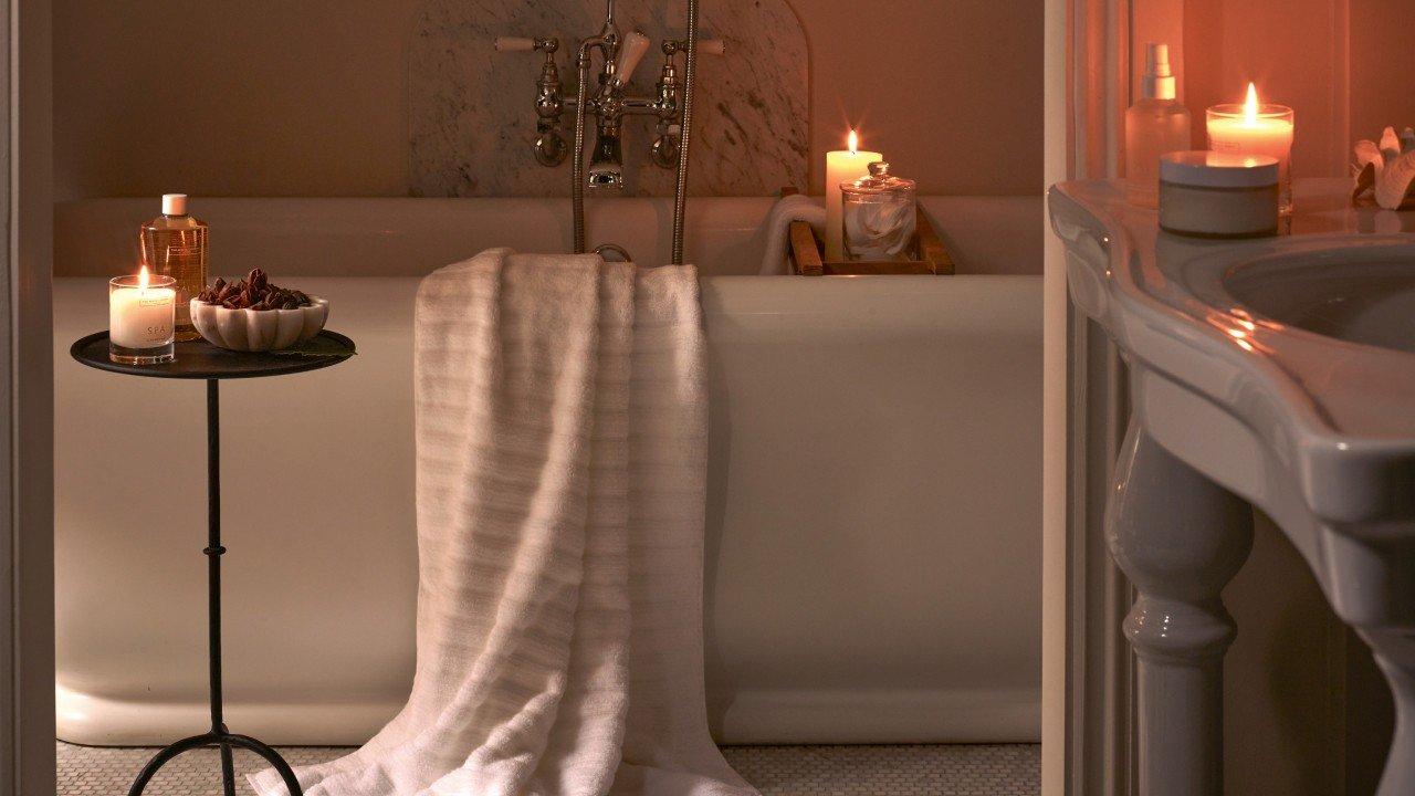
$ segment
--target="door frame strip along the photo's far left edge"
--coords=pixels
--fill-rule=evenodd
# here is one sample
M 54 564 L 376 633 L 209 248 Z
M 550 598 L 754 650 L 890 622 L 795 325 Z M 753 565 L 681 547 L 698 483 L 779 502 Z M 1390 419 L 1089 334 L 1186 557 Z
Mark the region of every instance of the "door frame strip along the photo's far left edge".
M 8 0 L 0 136 L 0 796 L 54 793 L 50 0 Z

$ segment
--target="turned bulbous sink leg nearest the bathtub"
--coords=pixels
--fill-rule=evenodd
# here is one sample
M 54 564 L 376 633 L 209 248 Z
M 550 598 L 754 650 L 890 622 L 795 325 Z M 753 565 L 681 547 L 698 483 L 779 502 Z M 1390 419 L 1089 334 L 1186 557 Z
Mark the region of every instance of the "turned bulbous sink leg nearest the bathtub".
M 1125 637 L 1139 659 L 1139 793 L 1223 795 L 1220 601 L 1252 547 L 1252 508 L 1162 449 L 1138 418 L 1107 510 L 1111 552 L 1139 592 Z

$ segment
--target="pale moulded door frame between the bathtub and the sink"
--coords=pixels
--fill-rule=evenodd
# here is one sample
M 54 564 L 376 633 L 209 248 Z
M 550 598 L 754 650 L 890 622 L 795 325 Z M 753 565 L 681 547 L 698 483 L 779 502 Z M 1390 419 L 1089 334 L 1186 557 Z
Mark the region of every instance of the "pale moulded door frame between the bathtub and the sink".
M 1179 3 L 1179 0 L 1169 0 Z M 1047 0 L 1046 183 L 1119 174 L 1129 52 L 1150 11 L 1132 0 Z M 1105 491 L 1122 429 L 1114 346 L 1071 312 L 1065 254 L 1047 231 L 1043 412 L 1044 796 L 1131 796 L 1129 585 L 1105 554 Z

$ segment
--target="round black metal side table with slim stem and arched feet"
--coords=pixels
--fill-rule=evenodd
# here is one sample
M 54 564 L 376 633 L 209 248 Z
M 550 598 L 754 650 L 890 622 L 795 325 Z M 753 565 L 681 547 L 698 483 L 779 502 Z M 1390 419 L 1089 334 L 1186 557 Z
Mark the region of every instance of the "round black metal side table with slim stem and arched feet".
M 205 340 L 177 343 L 177 360 L 157 365 L 125 365 L 108 358 L 108 331 L 82 337 L 69 354 L 92 368 L 146 375 L 149 378 L 207 380 L 207 602 L 211 674 L 211 731 L 183 738 L 158 751 L 133 780 L 129 796 L 140 796 L 147 782 L 168 761 L 190 749 L 216 746 L 221 749 L 221 778 L 225 796 L 235 796 L 236 779 L 231 749 L 249 749 L 266 759 L 284 780 L 290 796 L 303 796 L 290 765 L 279 752 L 250 738 L 226 729 L 221 717 L 221 404 L 219 384 L 224 378 L 258 378 L 327 368 L 354 354 L 354 341 L 334 331 L 321 331 L 303 344 L 299 353 L 241 353 L 216 348 Z

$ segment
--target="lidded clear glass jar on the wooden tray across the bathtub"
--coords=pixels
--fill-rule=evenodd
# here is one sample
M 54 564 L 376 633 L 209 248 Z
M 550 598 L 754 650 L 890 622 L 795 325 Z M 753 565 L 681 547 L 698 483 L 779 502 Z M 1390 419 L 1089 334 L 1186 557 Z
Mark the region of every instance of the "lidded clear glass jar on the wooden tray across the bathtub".
M 914 181 L 870 163 L 869 177 L 841 183 L 845 204 L 845 254 L 852 261 L 910 259 L 917 211 Z

